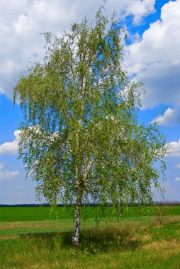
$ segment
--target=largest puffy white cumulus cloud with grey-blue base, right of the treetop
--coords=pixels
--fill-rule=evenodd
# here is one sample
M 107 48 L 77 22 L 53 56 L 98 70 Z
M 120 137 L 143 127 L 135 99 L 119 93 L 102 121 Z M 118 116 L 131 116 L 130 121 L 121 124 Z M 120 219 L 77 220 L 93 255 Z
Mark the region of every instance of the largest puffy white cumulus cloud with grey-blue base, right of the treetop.
M 162 6 L 140 42 L 126 48 L 126 65 L 135 80 L 145 81 L 144 108 L 180 105 L 180 0 Z M 169 111 L 171 112 L 171 111 Z

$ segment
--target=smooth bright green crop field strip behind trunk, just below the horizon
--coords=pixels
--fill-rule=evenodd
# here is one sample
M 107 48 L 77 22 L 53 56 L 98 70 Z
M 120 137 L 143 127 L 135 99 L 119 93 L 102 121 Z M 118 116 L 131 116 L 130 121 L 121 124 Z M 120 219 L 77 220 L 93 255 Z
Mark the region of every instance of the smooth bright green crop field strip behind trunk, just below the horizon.
M 96 217 L 99 207 L 83 207 L 82 217 Z M 107 207 L 108 217 L 116 217 L 113 207 Z M 128 207 L 124 217 L 152 216 L 156 207 Z M 180 215 L 180 206 L 164 206 L 165 215 Z M 0 222 L 38 221 L 50 219 L 50 207 L 0 207 Z M 57 207 L 57 219 L 73 219 L 71 208 Z

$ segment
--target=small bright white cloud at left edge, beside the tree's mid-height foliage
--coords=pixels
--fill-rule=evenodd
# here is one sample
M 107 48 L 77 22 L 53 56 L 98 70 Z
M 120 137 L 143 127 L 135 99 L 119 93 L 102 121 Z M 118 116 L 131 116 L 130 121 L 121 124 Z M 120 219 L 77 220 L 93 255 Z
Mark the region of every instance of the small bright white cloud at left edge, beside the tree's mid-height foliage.
M 13 142 L 5 142 L 3 144 L 0 144 L 0 154 L 16 154 L 18 153 L 18 135 L 19 130 L 16 130 L 13 135 L 15 136 L 15 139 Z

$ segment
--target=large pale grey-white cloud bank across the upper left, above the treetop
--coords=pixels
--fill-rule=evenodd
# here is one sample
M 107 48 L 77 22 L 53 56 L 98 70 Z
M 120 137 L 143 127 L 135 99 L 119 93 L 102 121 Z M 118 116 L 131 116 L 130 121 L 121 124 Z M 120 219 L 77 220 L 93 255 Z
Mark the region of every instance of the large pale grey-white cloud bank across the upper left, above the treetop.
M 143 16 L 154 12 L 155 0 L 107 1 L 106 13 L 118 11 L 120 18 L 133 16 L 140 23 Z M 102 0 L 1 0 L 0 1 L 0 93 L 11 97 L 14 80 L 29 62 L 43 59 L 44 38 L 40 33 L 55 35 L 68 30 L 71 23 L 94 15 Z

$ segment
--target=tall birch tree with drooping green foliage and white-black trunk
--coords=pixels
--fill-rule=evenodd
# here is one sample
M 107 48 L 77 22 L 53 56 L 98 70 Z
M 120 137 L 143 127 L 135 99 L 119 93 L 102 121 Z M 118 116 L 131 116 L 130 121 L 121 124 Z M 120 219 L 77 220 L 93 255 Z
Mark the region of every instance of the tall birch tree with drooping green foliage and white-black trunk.
M 142 84 L 123 68 L 123 38 L 102 8 L 60 37 L 45 33 L 43 63 L 14 88 L 24 115 L 20 158 L 37 195 L 74 205 L 75 246 L 83 203 L 111 203 L 120 216 L 130 202 L 152 202 L 164 175 L 164 137 L 137 121 Z

